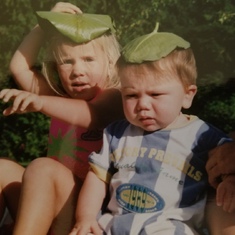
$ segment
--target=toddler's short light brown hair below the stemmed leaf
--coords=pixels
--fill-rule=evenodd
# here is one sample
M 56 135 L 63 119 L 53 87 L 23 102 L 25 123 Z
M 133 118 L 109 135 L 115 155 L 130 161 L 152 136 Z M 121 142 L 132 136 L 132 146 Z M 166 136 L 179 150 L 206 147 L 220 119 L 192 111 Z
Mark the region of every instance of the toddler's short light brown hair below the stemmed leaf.
M 120 57 L 117 61 L 119 76 L 121 73 L 128 72 L 129 69 L 135 70 L 135 73 L 138 74 L 156 74 L 155 77 L 159 80 L 179 79 L 185 88 L 195 85 L 197 79 L 196 61 L 191 48 L 175 49 L 160 60 L 141 64 L 128 63 Z

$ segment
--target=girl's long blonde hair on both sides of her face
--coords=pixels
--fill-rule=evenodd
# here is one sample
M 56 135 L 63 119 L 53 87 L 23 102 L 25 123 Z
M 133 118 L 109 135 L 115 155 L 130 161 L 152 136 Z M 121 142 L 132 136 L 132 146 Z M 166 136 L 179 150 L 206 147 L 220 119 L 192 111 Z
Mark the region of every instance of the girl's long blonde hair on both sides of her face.
M 93 43 L 95 46 L 100 46 L 104 52 L 104 56 L 107 56 L 107 62 L 109 63 L 108 77 L 106 78 L 105 87 L 119 87 L 119 79 L 116 72 L 116 61 L 120 56 L 120 45 L 117 38 L 113 34 L 105 34 L 98 38 L 95 38 L 89 43 Z M 76 43 L 65 38 L 62 35 L 57 35 L 50 39 L 47 46 L 46 59 L 42 64 L 42 73 L 46 78 L 50 87 L 60 96 L 67 96 L 57 72 L 57 63 L 61 61 L 59 46 L 62 43 L 76 45 Z M 78 44 L 82 45 L 82 44 Z

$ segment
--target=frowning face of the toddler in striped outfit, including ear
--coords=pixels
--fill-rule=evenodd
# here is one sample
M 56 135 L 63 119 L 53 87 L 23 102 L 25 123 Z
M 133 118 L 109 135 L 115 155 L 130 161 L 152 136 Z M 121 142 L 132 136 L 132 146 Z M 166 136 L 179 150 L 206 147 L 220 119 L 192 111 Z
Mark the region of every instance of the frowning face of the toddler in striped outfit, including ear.
M 121 73 L 123 107 L 127 120 L 146 131 L 166 128 L 181 108 L 189 108 L 196 86 L 188 92 L 177 79 L 158 80 L 156 75 Z

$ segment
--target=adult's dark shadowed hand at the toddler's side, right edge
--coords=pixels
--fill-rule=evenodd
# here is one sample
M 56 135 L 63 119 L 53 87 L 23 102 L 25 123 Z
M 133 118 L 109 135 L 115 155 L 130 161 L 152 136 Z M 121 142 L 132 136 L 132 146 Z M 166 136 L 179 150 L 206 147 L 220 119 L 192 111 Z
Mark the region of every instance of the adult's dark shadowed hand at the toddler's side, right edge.
M 216 188 L 223 175 L 235 174 L 235 142 L 225 143 L 209 152 L 206 164 L 209 183 Z

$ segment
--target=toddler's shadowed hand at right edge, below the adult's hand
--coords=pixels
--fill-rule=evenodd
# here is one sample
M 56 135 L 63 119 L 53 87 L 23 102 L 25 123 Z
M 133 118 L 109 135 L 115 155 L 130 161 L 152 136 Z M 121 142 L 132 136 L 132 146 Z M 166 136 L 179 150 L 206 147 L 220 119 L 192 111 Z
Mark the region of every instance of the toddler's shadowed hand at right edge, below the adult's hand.
M 235 211 L 235 175 L 225 176 L 216 189 L 216 204 L 229 213 Z

